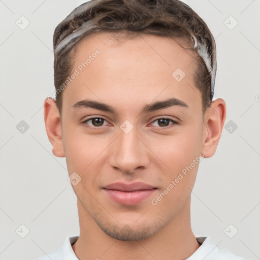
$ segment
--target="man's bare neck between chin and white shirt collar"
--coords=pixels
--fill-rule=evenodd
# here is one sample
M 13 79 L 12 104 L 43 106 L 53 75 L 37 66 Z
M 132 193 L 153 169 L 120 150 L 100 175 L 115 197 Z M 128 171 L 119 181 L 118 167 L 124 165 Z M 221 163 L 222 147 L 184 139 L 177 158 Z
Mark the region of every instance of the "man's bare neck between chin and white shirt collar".
M 108 236 L 94 222 L 79 200 L 77 203 L 80 236 L 72 248 L 80 260 L 180 260 L 188 258 L 200 247 L 191 230 L 190 197 L 168 225 L 156 235 L 139 241 L 120 241 Z

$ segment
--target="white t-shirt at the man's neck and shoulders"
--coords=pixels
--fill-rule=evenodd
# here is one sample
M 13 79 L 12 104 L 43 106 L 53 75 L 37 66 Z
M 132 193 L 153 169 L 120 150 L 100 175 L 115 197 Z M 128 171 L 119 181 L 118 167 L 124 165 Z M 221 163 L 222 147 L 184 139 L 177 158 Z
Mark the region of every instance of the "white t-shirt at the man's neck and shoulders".
M 79 236 L 68 237 L 59 249 L 35 260 L 79 260 L 72 249 L 72 245 L 78 238 Z M 247 260 L 229 251 L 219 249 L 210 237 L 197 237 L 196 239 L 201 246 L 186 260 Z

